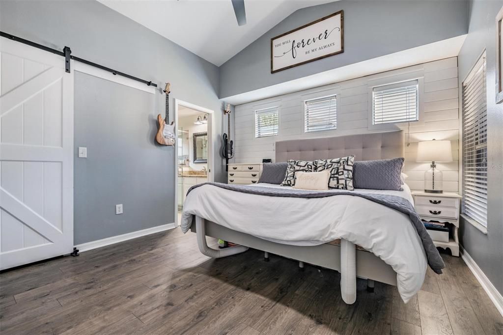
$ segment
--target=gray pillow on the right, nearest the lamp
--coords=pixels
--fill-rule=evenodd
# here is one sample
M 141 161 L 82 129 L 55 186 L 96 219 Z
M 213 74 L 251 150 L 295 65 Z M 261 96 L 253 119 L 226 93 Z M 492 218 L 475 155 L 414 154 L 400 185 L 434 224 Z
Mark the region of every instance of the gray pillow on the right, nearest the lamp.
M 403 157 L 355 161 L 353 185 L 355 189 L 402 191 L 402 167 Z

